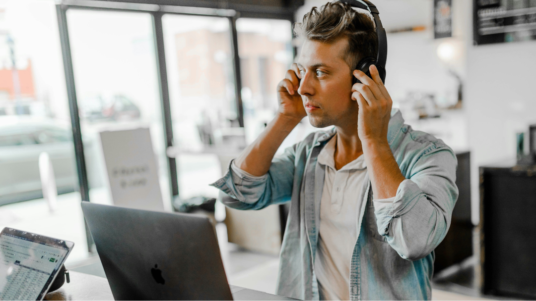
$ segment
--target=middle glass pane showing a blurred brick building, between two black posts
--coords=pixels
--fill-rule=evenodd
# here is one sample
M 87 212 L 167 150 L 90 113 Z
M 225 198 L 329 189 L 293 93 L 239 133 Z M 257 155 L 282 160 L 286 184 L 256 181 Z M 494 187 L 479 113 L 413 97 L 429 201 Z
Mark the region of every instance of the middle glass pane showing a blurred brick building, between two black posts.
M 244 146 L 236 110 L 229 19 L 162 18 L 180 197 L 217 197 L 225 152 Z

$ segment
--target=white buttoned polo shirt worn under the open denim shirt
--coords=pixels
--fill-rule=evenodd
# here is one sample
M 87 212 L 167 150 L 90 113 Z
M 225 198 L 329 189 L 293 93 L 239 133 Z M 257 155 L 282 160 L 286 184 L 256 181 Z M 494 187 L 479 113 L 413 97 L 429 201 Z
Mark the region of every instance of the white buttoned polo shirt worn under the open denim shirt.
M 337 135 L 318 154 L 318 164 L 325 168 L 324 189 L 320 204 L 320 229 L 315 256 L 315 274 L 321 300 L 350 299 L 350 266 L 358 240 L 358 219 L 367 189 L 367 164 L 361 155 L 337 171 L 335 146 Z M 374 206 L 392 203 L 393 198 L 374 200 Z

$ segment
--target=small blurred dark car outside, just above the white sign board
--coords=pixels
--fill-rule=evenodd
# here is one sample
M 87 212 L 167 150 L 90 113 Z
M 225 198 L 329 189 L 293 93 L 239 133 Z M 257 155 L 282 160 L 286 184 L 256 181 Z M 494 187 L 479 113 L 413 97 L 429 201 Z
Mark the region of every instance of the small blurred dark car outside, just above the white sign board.
M 140 117 L 138 106 L 124 95 L 86 98 L 79 105 L 80 117 L 88 121 L 135 120 Z

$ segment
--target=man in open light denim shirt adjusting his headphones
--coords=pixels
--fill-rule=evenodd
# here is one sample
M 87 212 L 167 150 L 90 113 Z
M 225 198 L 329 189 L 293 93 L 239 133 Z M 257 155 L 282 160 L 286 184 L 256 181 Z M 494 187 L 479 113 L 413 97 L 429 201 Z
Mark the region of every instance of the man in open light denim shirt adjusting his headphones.
M 227 206 L 291 202 L 277 294 L 305 300 L 430 300 L 433 250 L 449 229 L 456 156 L 404 125 L 371 66 L 374 23 L 341 3 L 296 24 L 298 63 L 278 85 L 279 109 L 213 186 Z M 352 84 L 352 76 L 361 83 Z M 305 117 L 316 132 L 274 157 Z

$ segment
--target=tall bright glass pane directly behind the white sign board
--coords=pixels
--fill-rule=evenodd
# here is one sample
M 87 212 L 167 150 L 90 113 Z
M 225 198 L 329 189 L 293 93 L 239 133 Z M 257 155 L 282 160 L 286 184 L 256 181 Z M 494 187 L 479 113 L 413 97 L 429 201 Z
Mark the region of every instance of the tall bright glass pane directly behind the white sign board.
M 163 202 L 169 205 L 151 14 L 70 9 L 66 16 L 90 199 L 111 203 L 99 133 L 147 127 L 159 162 Z

